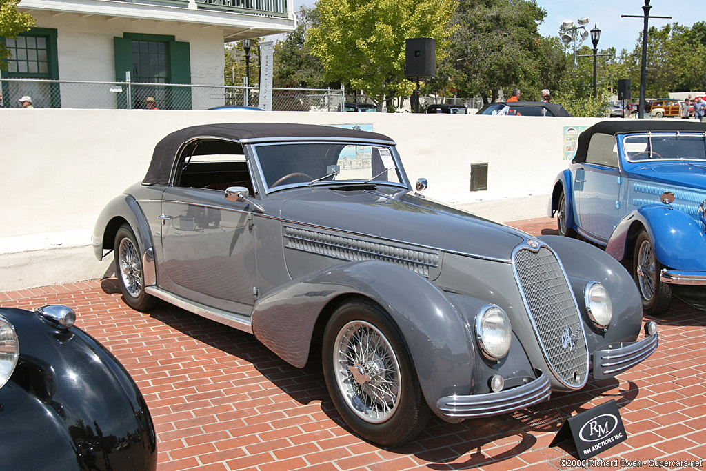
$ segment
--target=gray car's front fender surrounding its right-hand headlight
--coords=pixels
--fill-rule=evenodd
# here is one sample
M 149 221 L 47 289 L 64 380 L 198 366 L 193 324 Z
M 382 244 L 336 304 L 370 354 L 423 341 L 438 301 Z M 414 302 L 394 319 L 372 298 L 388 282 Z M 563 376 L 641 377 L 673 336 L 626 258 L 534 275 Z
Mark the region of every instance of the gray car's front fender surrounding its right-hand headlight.
M 560 236 L 542 236 L 558 255 L 568 275 L 583 319 L 589 352 L 608 342 L 633 342 L 642 328 L 642 302 L 630 273 L 615 258 L 601 249 L 576 239 Z M 594 327 L 588 317 L 583 296 L 590 281 L 601 283 L 611 297 L 613 318 L 603 332 Z

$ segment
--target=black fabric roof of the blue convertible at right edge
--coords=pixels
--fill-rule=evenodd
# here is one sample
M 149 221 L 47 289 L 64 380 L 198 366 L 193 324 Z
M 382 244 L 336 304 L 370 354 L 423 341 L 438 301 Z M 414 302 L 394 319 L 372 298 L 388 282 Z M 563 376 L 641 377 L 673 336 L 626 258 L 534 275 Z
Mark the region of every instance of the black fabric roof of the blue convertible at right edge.
M 591 137 L 594 134 L 610 134 L 611 136 L 616 136 L 618 134 L 647 133 L 649 131 L 653 133 L 675 131 L 681 131 L 683 133 L 702 133 L 706 132 L 706 123 L 687 121 L 685 119 L 651 119 L 649 121 L 616 119 L 614 121 L 600 121 L 578 136 L 578 148 L 576 149 L 576 155 L 572 162 L 586 162 L 588 144 L 591 142 Z

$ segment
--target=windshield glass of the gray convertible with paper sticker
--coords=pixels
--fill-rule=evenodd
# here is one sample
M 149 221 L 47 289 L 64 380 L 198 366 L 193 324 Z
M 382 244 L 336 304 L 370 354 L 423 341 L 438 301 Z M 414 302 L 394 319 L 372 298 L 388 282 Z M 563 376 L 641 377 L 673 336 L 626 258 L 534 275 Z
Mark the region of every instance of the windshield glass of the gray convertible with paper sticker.
M 403 184 L 395 150 L 388 145 L 282 143 L 253 150 L 268 190 L 331 182 Z

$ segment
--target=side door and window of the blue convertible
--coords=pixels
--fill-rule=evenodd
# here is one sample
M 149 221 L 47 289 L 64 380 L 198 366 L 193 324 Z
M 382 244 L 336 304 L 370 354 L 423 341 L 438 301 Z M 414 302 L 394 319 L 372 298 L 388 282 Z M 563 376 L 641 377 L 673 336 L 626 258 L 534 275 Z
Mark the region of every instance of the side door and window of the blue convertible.
M 585 237 L 605 244 L 618 224 L 622 184 L 615 136 L 594 134 L 586 162 L 575 172 L 579 229 Z

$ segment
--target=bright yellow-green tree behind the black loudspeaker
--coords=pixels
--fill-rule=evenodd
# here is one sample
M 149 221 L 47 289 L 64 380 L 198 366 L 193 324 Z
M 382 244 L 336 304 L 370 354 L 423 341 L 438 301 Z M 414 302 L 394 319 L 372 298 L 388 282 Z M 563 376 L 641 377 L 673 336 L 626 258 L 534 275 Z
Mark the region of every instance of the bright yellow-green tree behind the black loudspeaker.
M 414 87 L 404 75 L 405 39 L 436 39 L 441 59 L 455 7 L 456 0 L 318 0 L 321 16 L 305 44 L 321 59 L 325 81 L 364 90 L 382 109 Z

